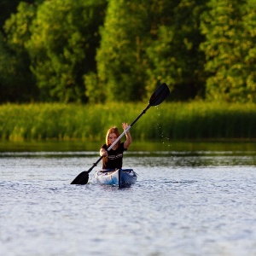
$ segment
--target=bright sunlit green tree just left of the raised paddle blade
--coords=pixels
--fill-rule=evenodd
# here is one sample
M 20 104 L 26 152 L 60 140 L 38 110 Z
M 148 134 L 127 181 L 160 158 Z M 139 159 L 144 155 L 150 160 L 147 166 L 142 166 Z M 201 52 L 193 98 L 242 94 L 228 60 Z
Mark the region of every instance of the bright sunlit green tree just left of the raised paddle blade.
M 142 99 L 147 67 L 145 45 L 151 26 L 148 11 L 152 2 L 109 1 L 101 46 L 96 54 L 99 81 L 88 85 L 96 86 L 98 99 L 132 102 Z

